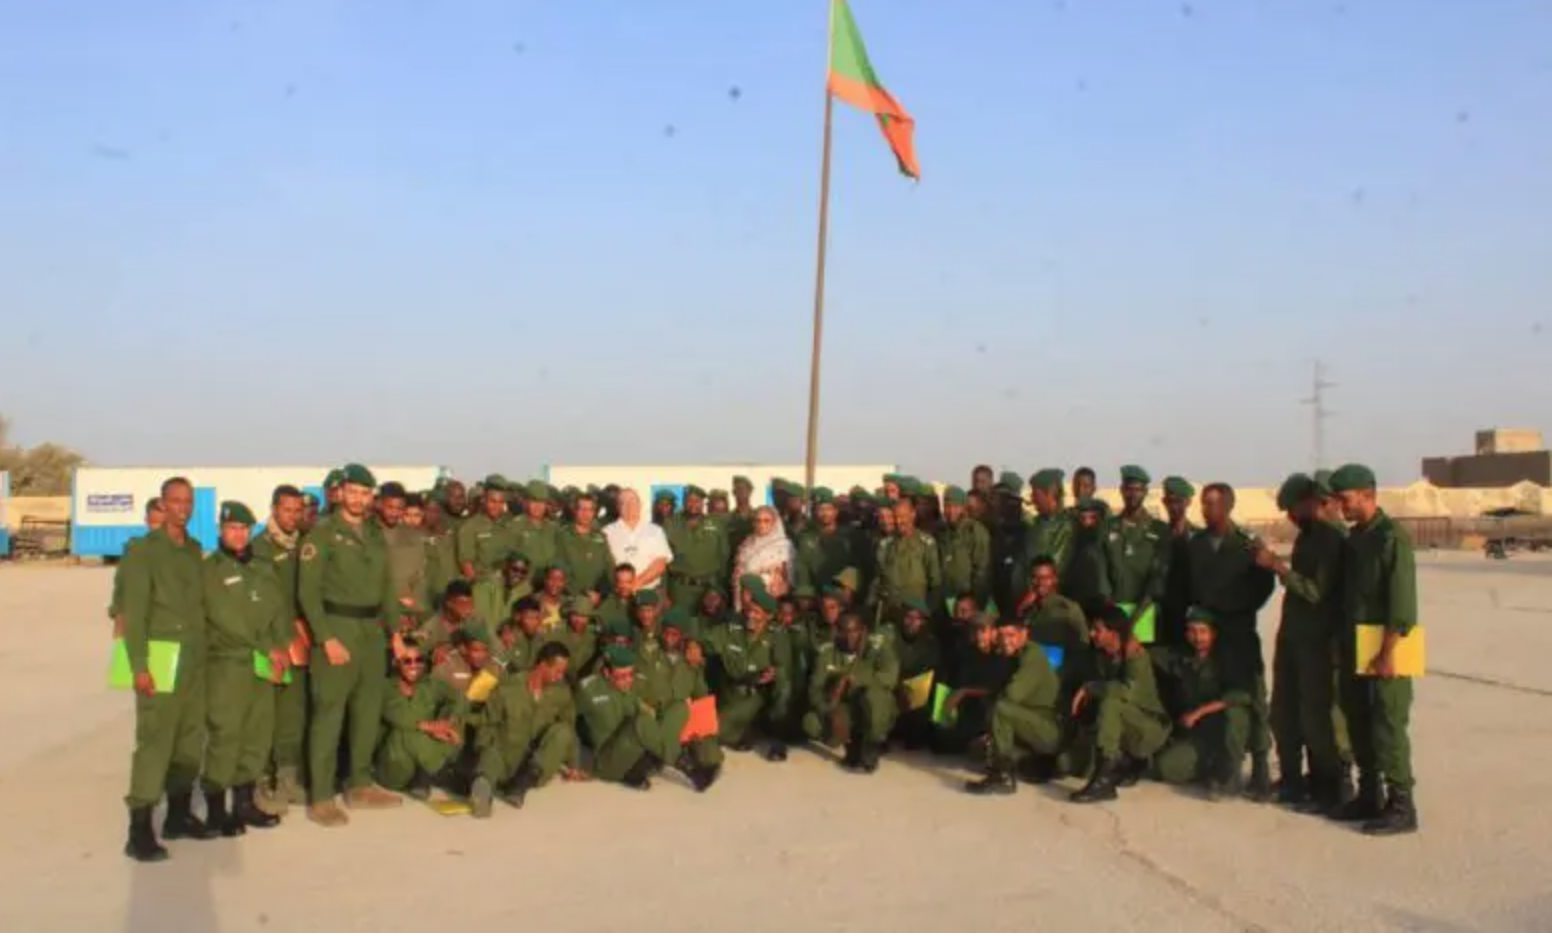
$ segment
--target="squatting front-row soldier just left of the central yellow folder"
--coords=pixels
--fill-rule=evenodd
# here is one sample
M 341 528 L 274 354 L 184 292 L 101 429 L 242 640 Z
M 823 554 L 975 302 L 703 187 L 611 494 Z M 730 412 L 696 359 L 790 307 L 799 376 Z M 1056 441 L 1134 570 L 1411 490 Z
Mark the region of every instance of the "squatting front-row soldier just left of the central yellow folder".
M 894 730 L 899 685 L 900 661 L 889 641 L 869 635 L 860 615 L 843 616 L 835 643 L 818 649 L 804 733 L 821 744 L 844 745 L 847 770 L 874 773 Z

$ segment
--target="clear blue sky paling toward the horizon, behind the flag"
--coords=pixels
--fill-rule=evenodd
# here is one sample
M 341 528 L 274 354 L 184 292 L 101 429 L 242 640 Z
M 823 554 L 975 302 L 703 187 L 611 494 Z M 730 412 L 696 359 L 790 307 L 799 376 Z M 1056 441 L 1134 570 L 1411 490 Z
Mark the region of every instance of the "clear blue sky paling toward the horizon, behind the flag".
M 1552 432 L 1552 3 L 854 0 L 821 456 Z M 823 0 L 0 2 L 0 411 L 99 464 L 801 461 Z M 1544 328 L 1543 328 L 1544 326 Z

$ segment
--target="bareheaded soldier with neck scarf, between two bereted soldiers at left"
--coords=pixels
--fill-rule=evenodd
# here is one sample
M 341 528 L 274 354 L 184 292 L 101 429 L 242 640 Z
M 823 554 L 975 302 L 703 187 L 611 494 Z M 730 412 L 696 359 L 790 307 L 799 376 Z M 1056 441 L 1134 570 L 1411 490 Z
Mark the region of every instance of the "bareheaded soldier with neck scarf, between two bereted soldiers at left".
M 281 484 L 270 495 L 270 522 L 253 540 L 253 557 L 270 565 L 275 584 L 281 591 L 281 608 L 286 615 L 286 644 L 295 652 L 287 653 L 290 683 L 275 689 L 275 744 L 273 784 L 261 790 L 259 807 L 270 815 L 284 815 L 289 806 L 306 806 L 307 789 L 303 781 L 306 757 L 303 745 L 307 737 L 307 622 L 296 604 L 300 562 L 296 548 L 301 543 L 303 494 L 290 484 Z

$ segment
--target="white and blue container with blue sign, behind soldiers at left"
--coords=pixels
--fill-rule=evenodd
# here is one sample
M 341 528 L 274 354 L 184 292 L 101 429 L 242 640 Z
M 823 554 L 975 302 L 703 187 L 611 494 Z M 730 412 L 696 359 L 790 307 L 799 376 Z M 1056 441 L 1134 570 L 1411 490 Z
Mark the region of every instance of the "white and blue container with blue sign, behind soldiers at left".
M 399 481 L 408 491 L 431 487 L 445 473 L 436 466 L 368 466 L 377 483 Z M 304 467 L 82 467 L 70 491 L 70 553 L 73 556 L 123 556 L 124 543 L 146 532 L 146 501 L 161 492 L 168 478 L 183 477 L 194 486 L 192 534 L 206 549 L 216 546 L 216 512 L 223 500 L 241 500 L 262 522 L 270 497 L 281 484 L 293 484 L 323 497 L 323 480 L 332 466 Z

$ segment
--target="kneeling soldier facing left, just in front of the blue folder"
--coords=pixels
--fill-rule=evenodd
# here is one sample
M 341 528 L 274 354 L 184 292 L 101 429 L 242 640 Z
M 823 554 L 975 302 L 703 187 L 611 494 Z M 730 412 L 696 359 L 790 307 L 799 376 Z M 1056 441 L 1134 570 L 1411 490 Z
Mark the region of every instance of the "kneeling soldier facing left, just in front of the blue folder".
M 1015 775 L 1023 757 L 1029 757 L 1024 773 L 1034 782 L 1055 776 L 1055 754 L 1062 750 L 1062 680 L 1051 669 L 1051 660 L 1040 644 L 1031 643 L 1029 629 L 1017 619 L 998 624 L 998 652 L 1015 660 L 1012 677 L 995 692 L 992 703 L 992 744 L 987 750 L 986 776 L 965 784 L 972 793 L 1012 793 L 1018 789 Z M 984 697 L 992 686 L 962 686 L 951 699 L 958 711 L 965 699 Z

